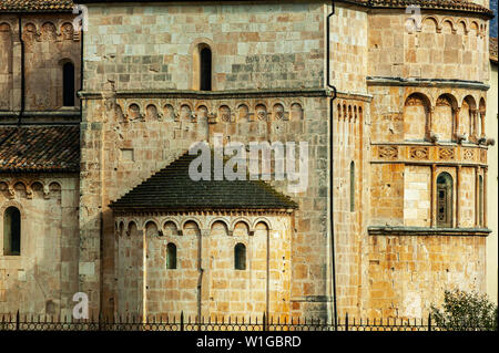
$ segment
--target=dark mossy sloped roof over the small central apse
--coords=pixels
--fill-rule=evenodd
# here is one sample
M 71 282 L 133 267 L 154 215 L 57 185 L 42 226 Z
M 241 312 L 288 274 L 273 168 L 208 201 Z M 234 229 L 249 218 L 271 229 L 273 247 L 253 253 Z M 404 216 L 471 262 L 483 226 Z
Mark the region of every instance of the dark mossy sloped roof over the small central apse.
M 261 180 L 214 180 L 212 158 L 211 180 L 194 181 L 189 175 L 191 162 L 197 155 L 185 153 L 111 203 L 115 210 L 208 210 L 208 209 L 291 209 L 297 208 L 289 197 L 277 193 Z

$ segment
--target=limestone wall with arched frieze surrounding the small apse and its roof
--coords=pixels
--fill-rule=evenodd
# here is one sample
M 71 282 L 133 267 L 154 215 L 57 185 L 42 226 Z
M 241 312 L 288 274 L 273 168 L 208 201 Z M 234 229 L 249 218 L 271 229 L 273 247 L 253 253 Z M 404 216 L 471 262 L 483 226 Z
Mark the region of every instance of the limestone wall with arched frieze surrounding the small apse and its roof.
M 215 133 L 223 134 L 224 143 L 230 138 L 246 145 L 252 141 L 307 142 L 307 189 L 301 194 L 289 194 L 286 180 L 272 184 L 299 205 L 292 271 L 297 271 L 295 266 L 302 266 L 305 271 L 301 272 L 299 280 L 293 282 L 294 308 L 297 313 L 303 312 L 304 307 L 317 308 L 317 312 L 324 313 L 328 291 L 328 277 L 324 273 L 329 256 L 328 240 L 324 237 L 327 231 L 326 98 L 242 94 L 208 100 L 203 96 L 186 98 L 182 93 L 170 98 L 159 97 L 161 95 L 129 98 L 124 93 L 104 91 L 104 96 L 108 94 L 105 100 L 89 95 L 84 102 L 81 174 L 84 191 L 80 225 L 86 246 L 81 261 L 99 263 L 99 207 L 103 209 L 104 235 L 113 233 L 111 214 L 106 208 L 109 203 L 173 162 L 192 143 L 213 142 Z M 136 104 L 139 112 L 130 108 L 133 104 Z M 149 105 L 154 105 L 161 115 L 149 114 Z M 104 237 L 104 249 L 113 249 L 113 242 L 106 243 L 108 239 Z M 104 288 L 110 288 L 109 292 L 104 292 L 106 298 L 103 304 L 111 305 L 114 260 L 111 255 L 104 253 L 103 261 L 108 263 L 104 268 Z M 99 273 L 98 264 L 95 273 Z M 85 291 L 95 293 L 98 282 L 82 282 L 89 283 Z M 319 302 L 308 297 L 318 298 Z M 100 300 L 94 299 L 94 303 L 99 304 Z

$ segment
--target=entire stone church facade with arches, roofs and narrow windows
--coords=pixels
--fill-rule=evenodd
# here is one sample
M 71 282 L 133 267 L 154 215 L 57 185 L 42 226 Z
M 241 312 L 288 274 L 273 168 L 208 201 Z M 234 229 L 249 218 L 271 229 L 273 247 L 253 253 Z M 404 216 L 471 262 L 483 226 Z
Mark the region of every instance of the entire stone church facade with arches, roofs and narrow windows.
M 0 1 L 0 313 L 422 318 L 485 291 L 488 1 L 75 2 L 83 32 L 71 1 Z M 215 134 L 307 142 L 307 189 L 192 181 Z

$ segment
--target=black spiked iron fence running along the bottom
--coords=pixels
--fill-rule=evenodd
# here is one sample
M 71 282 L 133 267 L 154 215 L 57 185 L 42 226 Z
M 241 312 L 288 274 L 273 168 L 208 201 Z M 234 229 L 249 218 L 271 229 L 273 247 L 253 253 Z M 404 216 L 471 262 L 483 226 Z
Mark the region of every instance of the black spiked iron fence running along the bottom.
M 273 331 L 273 332 L 303 332 L 303 331 L 490 331 L 490 328 L 480 328 L 464 323 L 458 328 L 437 326 L 431 316 L 424 319 L 371 319 L 356 320 L 338 318 L 336 321 L 320 319 L 281 320 L 279 318 L 197 318 L 185 316 L 183 313 L 173 316 L 99 316 L 86 320 L 47 315 L 2 315 L 1 331 Z

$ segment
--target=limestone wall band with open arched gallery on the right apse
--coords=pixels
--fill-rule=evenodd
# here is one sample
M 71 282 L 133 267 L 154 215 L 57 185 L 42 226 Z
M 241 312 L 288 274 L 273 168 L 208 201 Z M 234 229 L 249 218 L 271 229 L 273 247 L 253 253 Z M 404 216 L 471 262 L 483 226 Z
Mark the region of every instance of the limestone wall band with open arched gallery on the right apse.
M 384 84 L 385 83 L 385 84 Z M 482 132 L 486 90 L 482 84 L 465 86 L 410 86 L 368 82 L 373 143 L 422 143 L 430 132 L 440 143 L 475 144 Z

